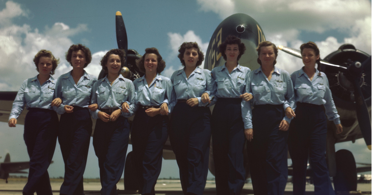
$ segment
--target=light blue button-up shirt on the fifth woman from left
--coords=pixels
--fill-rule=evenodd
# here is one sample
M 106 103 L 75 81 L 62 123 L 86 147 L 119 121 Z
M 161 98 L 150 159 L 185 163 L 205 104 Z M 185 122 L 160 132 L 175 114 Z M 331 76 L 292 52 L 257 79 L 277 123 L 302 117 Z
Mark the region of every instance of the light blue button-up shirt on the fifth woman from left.
M 174 72 L 170 80 L 173 83 L 172 110 L 177 100 L 188 100 L 190 98 L 198 98 L 199 106 L 205 106 L 208 102 L 203 103 L 201 101 L 202 94 L 208 93 L 208 95 L 211 95 L 211 92 L 215 91 L 216 88 L 211 71 L 201 69 L 199 66 L 189 75 L 189 78 L 186 77 L 183 68 Z

